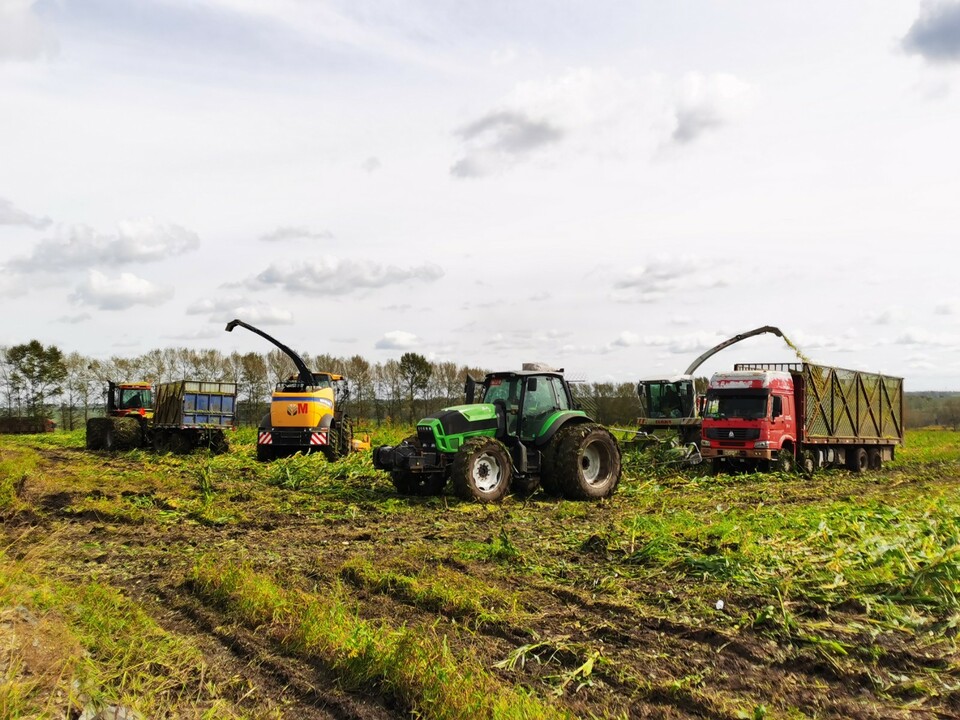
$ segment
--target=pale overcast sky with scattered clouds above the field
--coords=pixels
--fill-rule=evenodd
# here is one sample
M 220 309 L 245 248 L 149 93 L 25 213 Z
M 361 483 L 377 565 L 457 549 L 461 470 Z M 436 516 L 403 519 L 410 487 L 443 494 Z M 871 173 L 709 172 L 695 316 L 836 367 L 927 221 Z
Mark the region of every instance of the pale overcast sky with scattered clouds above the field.
M 958 136 L 960 0 L 0 0 L 0 345 L 960 390 Z

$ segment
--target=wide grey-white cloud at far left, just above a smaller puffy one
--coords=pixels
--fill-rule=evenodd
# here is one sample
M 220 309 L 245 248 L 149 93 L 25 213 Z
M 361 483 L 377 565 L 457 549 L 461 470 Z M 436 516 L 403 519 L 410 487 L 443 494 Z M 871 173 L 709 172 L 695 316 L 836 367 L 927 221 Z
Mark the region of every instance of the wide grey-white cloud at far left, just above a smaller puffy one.
M 22 272 L 57 272 L 145 263 L 182 255 L 199 245 L 196 233 L 151 219 L 123 221 L 111 236 L 76 225 L 58 237 L 41 240 L 30 255 L 11 260 L 8 267 Z

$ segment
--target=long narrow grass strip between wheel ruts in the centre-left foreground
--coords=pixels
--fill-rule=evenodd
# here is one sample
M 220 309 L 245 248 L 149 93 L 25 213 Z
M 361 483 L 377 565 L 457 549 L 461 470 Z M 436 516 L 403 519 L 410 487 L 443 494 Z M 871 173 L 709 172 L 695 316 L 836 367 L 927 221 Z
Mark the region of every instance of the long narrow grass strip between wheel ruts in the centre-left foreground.
M 286 650 L 321 660 L 349 686 L 377 687 L 414 715 L 567 717 L 523 689 L 502 685 L 469 655 L 455 655 L 446 637 L 363 620 L 336 595 L 285 589 L 217 558 L 198 563 L 192 582 L 201 597 L 267 629 Z

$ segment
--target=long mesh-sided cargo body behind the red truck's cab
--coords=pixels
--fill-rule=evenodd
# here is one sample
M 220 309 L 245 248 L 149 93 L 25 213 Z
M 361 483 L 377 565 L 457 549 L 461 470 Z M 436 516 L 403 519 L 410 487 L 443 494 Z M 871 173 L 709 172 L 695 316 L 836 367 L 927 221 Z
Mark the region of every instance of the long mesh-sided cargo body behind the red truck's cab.
M 903 378 L 813 363 L 740 364 L 793 376 L 808 445 L 903 445 Z

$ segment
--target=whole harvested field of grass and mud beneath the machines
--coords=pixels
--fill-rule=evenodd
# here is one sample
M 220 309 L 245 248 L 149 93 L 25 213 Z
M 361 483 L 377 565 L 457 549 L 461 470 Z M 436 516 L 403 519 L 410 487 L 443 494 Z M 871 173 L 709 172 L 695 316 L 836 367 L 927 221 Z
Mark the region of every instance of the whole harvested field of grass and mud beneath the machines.
M 957 440 L 812 479 L 628 454 L 610 500 L 483 506 L 249 431 L 0 436 L 0 717 L 955 717 Z

